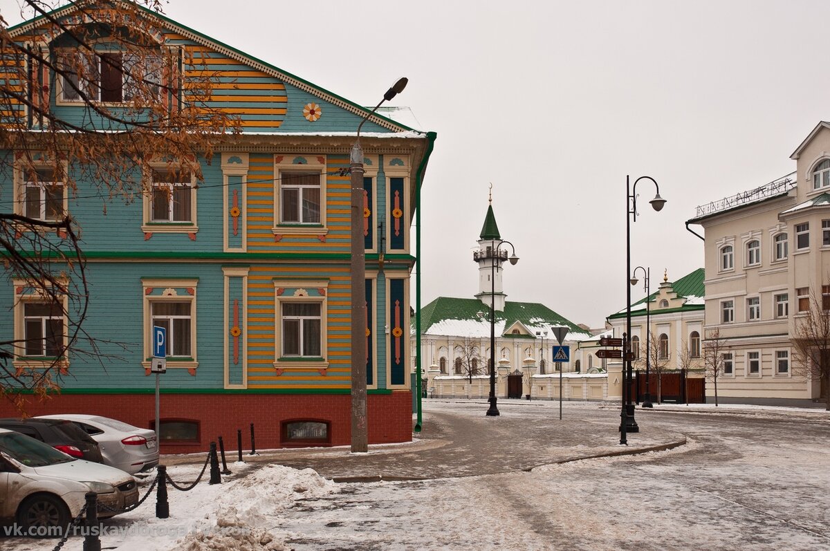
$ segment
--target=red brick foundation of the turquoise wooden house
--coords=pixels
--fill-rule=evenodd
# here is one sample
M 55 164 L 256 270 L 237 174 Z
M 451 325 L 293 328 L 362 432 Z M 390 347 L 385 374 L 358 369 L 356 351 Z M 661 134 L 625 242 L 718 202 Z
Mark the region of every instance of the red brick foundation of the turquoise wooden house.
M 32 398 L 29 416 L 87 413 L 112 417 L 136 427 L 150 427 L 155 417 L 153 394 L 61 394 L 40 402 Z M 243 451 L 251 451 L 251 423 L 256 450 L 284 447 L 281 422 L 310 419 L 330 422 L 331 446 L 351 443 L 351 397 L 339 394 L 162 394 L 161 418 L 199 422 L 193 443 L 164 443 L 162 453 L 207 451 L 222 436 L 226 451 L 237 451 L 242 430 Z M 367 401 L 369 444 L 412 440 L 412 393 L 370 394 Z M 19 417 L 9 402 L 0 402 L 0 417 Z M 234 457 L 229 457 L 234 460 Z

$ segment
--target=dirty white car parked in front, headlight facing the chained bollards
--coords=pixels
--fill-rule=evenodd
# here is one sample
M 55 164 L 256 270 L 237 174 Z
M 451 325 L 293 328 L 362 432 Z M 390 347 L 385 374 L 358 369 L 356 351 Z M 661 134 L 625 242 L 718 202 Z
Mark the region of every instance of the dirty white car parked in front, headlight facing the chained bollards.
M 0 428 L 0 523 L 22 535 L 61 536 L 94 491 L 102 519 L 139 500 L 134 478 L 114 467 L 68 456 L 19 432 Z

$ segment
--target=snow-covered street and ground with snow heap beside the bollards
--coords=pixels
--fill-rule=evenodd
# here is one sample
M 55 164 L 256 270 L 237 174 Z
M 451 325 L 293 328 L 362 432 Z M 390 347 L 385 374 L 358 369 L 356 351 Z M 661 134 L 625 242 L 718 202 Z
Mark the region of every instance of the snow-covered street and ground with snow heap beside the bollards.
M 589 424 L 609 413 L 602 404 L 565 406 L 567 415 Z M 483 418 L 478 404 L 427 407 L 467 422 Z M 536 402 L 509 414 L 536 422 L 557 407 Z M 731 405 L 716 413 L 690 406 L 698 412 L 681 414 L 681 408 L 637 410 L 637 416 L 646 431 L 685 434 L 686 446 L 528 472 L 335 484 L 309 469 L 233 464 L 222 485 L 204 480 L 186 493 L 170 489 L 169 519 L 155 519 L 151 498 L 105 521 L 102 549 L 830 549 L 830 415 Z M 168 472 L 182 483 L 200 470 Z M 55 544 L 0 539 L 3 551 Z M 63 549 L 82 545 L 71 538 Z

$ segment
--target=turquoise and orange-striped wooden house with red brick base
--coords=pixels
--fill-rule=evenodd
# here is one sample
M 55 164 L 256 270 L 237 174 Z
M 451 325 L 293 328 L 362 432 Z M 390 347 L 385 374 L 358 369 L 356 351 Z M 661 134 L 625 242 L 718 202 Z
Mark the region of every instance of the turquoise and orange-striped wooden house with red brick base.
M 83 25 L 74 10 L 24 22 L 11 35 L 57 63 L 71 41 L 50 19 Z M 2 152 L 2 212 L 48 218 L 56 209 L 70 212 L 81 228 L 90 288 L 85 329 L 100 339 L 105 358 L 63 358 L 61 393 L 30 402 L 28 413 L 82 412 L 152 426 L 151 333 L 164 326 L 163 452 L 201 451 L 219 435 L 232 439 L 237 429 L 247 435 L 250 423 L 259 448 L 348 444 L 356 292 L 365 295 L 369 313 L 369 443 L 410 440 L 407 340 L 416 261 L 410 228 L 436 135 L 396 122 L 400 111 L 393 109 L 364 124 L 366 278 L 364 288 L 352 289 L 349 149 L 369 110 L 197 30 L 140 12 L 158 46 L 178 60 L 180 81 L 166 105 L 186 103 L 189 76 L 207 65 L 216 73 L 212 105 L 237 117 L 241 132 L 218 144 L 211 158 L 180 159 L 174 171 L 169 159 L 145 159 L 136 178 L 148 193 L 105 209 L 95 182 L 71 163 L 66 171 L 78 171 L 77 189 L 61 191 L 60 174 L 50 173 L 56 185 L 46 193 L 15 162 L 20 152 Z M 120 54 L 110 46 L 105 55 Z M 79 124 L 95 119 L 48 66 L 30 74 L 22 85 L 36 90 L 32 96 L 43 105 Z M 127 80 L 119 79 L 115 92 L 102 82 L 95 101 L 127 101 Z M 114 95 L 103 97 L 103 90 Z M 25 124 L 38 131 L 37 120 Z M 188 169 L 194 162 L 201 179 Z M 7 367 L 45 365 L 67 320 L 53 315 L 25 277 L 8 269 L 4 275 L 2 340 L 26 343 L 3 350 L 12 355 Z M 0 403 L 0 417 L 11 414 Z

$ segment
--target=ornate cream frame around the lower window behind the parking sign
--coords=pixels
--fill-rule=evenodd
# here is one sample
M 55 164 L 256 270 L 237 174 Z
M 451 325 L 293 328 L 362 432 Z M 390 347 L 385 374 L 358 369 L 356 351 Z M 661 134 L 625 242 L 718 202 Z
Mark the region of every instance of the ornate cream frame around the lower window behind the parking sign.
M 166 361 L 168 369 L 198 368 L 197 312 L 196 295 L 198 278 L 141 278 L 144 296 L 144 361 L 141 366 L 149 373 L 150 360 L 153 358 L 153 304 L 164 302 L 186 302 L 190 304 L 190 356 L 169 356 Z M 162 289 L 160 295 L 154 290 Z M 169 335 L 168 335 L 169 338 Z M 169 348 L 168 348 L 169 350 Z M 195 372 L 193 372 L 195 373 Z

